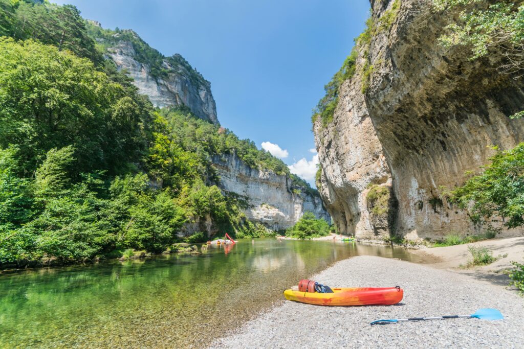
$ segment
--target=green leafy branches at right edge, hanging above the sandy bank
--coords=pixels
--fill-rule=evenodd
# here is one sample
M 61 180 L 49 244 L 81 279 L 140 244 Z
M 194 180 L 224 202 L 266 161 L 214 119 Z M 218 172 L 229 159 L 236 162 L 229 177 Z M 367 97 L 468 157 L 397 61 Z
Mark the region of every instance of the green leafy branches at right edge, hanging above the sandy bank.
M 499 151 L 483 167 L 483 172 L 468 179 L 453 191 L 455 202 L 467 209 L 474 222 L 485 223 L 494 215 L 506 220 L 504 226 L 524 225 L 524 143 Z

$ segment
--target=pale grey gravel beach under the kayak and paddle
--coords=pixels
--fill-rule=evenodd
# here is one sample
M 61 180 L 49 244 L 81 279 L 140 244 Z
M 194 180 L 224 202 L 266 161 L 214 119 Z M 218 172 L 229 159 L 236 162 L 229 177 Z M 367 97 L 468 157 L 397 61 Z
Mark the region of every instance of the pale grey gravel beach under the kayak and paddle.
M 322 307 L 282 301 L 211 347 L 524 347 L 524 298 L 513 290 L 481 283 L 467 275 L 388 258 L 358 256 L 338 262 L 311 279 L 331 287 L 399 285 L 404 289 L 404 299 L 395 306 L 367 307 Z M 499 309 L 505 319 L 369 325 L 378 319 L 472 314 L 479 308 Z

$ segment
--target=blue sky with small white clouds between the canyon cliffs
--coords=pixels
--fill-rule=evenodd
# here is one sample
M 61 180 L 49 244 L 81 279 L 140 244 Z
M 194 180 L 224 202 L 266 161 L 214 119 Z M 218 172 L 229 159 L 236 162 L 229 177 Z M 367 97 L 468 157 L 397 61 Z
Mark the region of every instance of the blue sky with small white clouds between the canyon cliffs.
M 133 29 L 166 56 L 182 54 L 211 82 L 221 124 L 258 147 L 269 142 L 274 154 L 287 151 L 282 160 L 306 179 L 311 109 L 369 14 L 368 0 L 52 2 L 73 4 L 104 28 Z

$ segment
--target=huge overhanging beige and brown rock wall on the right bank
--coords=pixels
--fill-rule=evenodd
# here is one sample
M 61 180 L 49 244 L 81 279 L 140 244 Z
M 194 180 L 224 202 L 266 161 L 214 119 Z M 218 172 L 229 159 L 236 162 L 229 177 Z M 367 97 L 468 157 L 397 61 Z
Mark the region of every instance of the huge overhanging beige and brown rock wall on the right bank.
M 371 1 L 375 23 L 393 3 Z M 360 48 L 333 122 L 314 125 L 321 195 L 340 230 L 357 237 L 479 233 L 446 191 L 487 163 L 489 145 L 509 149 L 524 140 L 524 121 L 508 117 L 524 109 L 524 80 L 498 73 L 496 54 L 470 61 L 463 48 L 444 49 L 438 38 L 455 14 L 427 16 L 421 3 L 401 1 L 392 26 Z M 389 223 L 373 217 L 366 200 L 374 184 L 391 186 Z

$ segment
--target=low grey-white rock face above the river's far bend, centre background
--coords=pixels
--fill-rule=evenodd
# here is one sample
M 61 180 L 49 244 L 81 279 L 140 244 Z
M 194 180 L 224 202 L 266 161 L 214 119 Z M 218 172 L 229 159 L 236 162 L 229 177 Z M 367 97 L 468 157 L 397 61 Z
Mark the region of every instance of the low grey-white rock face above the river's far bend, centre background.
M 246 200 L 244 212 L 249 220 L 280 230 L 292 226 L 304 212 L 313 212 L 331 222 L 320 196 L 294 187 L 288 176 L 249 167 L 236 155 L 214 156 L 212 161 L 220 176 L 219 187 Z

